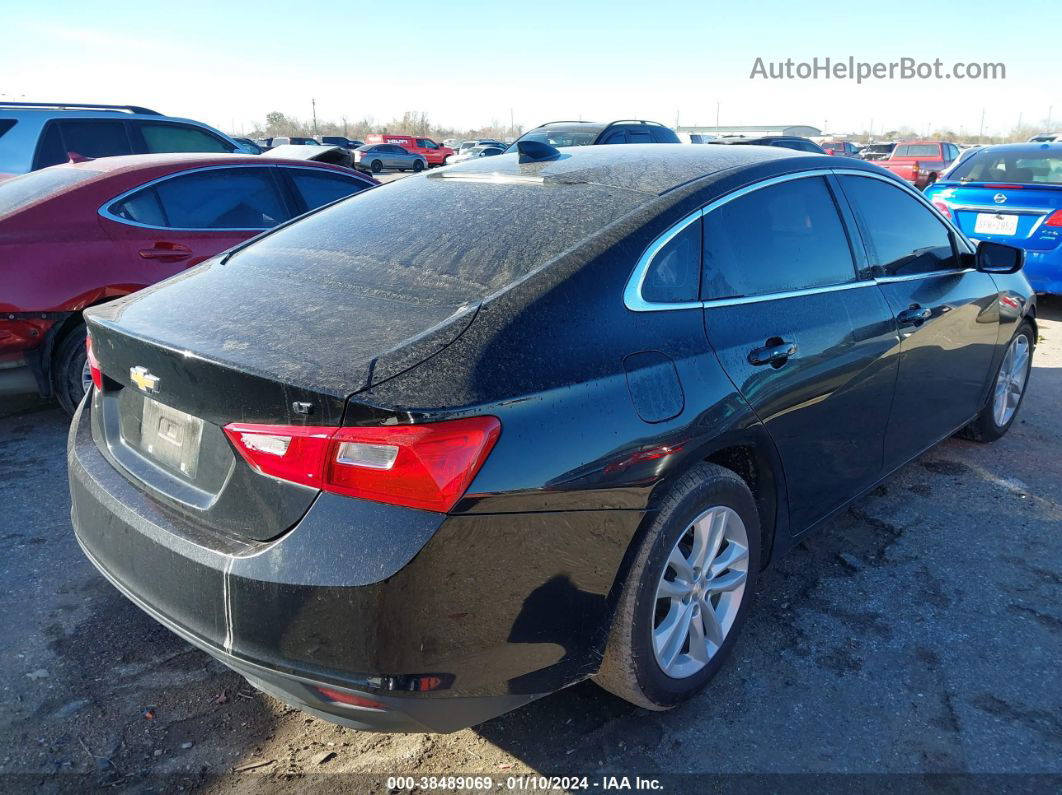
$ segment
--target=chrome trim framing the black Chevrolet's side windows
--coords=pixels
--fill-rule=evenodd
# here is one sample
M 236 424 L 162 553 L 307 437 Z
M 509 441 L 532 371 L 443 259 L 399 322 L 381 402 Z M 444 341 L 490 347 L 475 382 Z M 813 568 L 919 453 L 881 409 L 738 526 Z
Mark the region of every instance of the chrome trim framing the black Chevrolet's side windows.
M 886 174 L 875 174 L 873 171 L 866 171 L 863 169 L 810 169 L 808 171 L 800 171 L 792 174 L 781 174 L 778 176 L 768 177 L 761 179 L 757 183 L 752 183 L 751 185 L 746 185 L 742 188 L 738 188 L 719 198 L 714 200 L 704 207 L 693 210 L 688 215 L 680 220 L 678 223 L 672 225 L 656 238 L 646 250 L 638 258 L 637 263 L 634 265 L 634 270 L 631 276 L 627 280 L 627 287 L 623 289 L 623 305 L 632 312 L 666 312 L 671 310 L 682 310 L 682 309 L 708 309 L 710 307 L 730 307 L 738 306 L 742 304 L 758 304 L 765 300 L 777 300 L 783 298 L 794 298 L 801 295 L 816 295 L 819 293 L 830 293 L 838 292 L 841 290 L 853 290 L 860 287 L 869 287 L 871 284 L 887 284 L 894 281 L 914 281 L 918 279 L 927 279 L 933 276 L 945 276 L 945 275 L 959 275 L 964 273 L 972 273 L 974 269 L 963 269 L 963 270 L 946 270 L 946 271 L 933 271 L 931 273 L 924 274 L 912 274 L 910 276 L 879 276 L 873 279 L 860 279 L 856 278 L 854 281 L 845 281 L 839 284 L 826 284 L 823 287 L 813 288 L 803 288 L 801 290 L 787 290 L 776 293 L 760 293 L 758 295 L 747 295 L 739 296 L 735 298 L 712 298 L 708 300 L 698 300 L 698 301 L 682 301 L 674 304 L 662 304 L 655 301 L 647 301 L 641 297 L 641 286 L 645 283 L 646 276 L 649 273 L 649 267 L 652 265 L 653 258 L 660 253 L 661 248 L 667 245 L 675 235 L 685 229 L 689 224 L 693 223 L 698 219 L 703 219 L 707 213 L 712 212 L 719 207 L 727 204 L 729 202 L 739 198 L 741 196 L 748 195 L 754 191 L 760 190 L 761 188 L 769 188 L 773 185 L 781 185 L 782 183 L 792 182 L 794 179 L 804 179 L 809 177 L 827 177 L 830 175 L 835 176 L 863 176 L 870 179 L 878 179 L 883 183 L 893 186 L 907 192 L 909 195 L 917 198 L 926 207 L 941 223 L 944 224 L 945 228 L 952 231 L 956 238 L 966 243 L 970 252 L 973 252 L 973 246 L 966 239 L 965 235 L 962 234 L 955 224 L 953 224 L 944 214 L 937 209 L 932 203 L 926 198 L 922 193 L 914 190 L 911 186 L 906 183 L 901 183 L 892 176 Z M 840 215 L 840 212 L 838 212 Z M 844 219 L 841 218 L 841 222 Z

